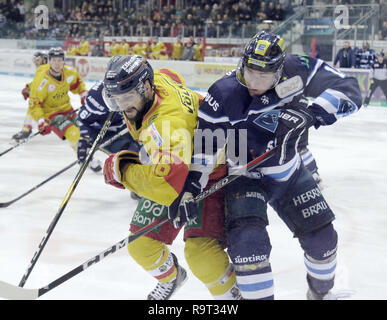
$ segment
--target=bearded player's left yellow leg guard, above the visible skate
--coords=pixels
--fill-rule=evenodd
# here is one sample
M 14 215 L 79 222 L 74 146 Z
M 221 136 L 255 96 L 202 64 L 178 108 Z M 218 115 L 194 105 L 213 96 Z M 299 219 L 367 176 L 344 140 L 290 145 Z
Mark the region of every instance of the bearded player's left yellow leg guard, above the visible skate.
M 168 247 L 147 236 L 128 244 L 132 258 L 159 282 L 169 282 L 176 278 L 177 269 Z

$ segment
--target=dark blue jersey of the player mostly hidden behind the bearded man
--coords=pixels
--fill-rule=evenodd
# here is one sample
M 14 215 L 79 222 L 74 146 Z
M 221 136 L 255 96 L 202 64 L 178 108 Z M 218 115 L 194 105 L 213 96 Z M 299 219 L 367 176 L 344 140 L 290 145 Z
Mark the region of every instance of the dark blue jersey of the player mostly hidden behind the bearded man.
M 85 99 L 85 104 L 78 113 L 78 124 L 82 137 L 89 137 L 91 141 L 97 137 L 104 125 L 109 109 L 102 98 L 102 81 L 91 87 Z M 112 124 L 108 128 L 105 139 L 126 128 L 124 117 L 121 113 L 115 115 Z

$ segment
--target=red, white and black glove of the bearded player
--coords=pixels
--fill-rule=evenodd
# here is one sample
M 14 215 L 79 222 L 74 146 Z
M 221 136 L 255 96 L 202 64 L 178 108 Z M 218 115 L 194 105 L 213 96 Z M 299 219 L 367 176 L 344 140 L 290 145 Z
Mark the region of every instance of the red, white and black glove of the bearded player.
M 106 160 L 103 168 L 105 183 L 120 189 L 125 189 L 122 185 L 122 170 L 125 165 L 141 163 L 138 152 L 131 150 L 119 151 L 111 154 Z

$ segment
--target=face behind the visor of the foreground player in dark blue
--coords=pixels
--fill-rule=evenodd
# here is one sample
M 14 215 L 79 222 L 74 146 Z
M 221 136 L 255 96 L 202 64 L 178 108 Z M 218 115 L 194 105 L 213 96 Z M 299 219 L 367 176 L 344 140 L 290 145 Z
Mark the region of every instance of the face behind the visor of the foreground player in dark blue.
M 243 77 L 251 96 L 264 94 L 273 88 L 276 82 L 275 73 L 254 70 L 247 66 L 244 67 Z

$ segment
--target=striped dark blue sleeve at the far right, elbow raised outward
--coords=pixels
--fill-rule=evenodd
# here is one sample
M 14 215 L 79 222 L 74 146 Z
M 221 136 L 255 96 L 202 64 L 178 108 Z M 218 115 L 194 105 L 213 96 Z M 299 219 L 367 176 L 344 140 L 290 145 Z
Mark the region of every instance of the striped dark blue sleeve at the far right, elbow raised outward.
M 358 111 L 362 104 L 357 80 L 347 77 L 319 59 L 310 58 L 304 93 L 315 98 L 309 110 L 318 125 L 330 125 L 339 118 Z

